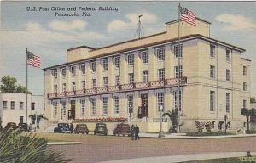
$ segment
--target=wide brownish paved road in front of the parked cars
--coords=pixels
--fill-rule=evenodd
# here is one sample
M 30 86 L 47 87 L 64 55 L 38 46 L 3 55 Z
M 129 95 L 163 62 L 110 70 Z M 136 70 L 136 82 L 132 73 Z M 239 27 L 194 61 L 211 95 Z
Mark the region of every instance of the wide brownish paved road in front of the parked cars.
M 53 145 L 50 149 L 62 151 L 73 163 L 124 160 L 168 155 L 205 154 L 215 152 L 256 151 L 256 137 L 218 139 L 177 139 L 51 134 L 51 139 L 80 141 L 76 145 Z

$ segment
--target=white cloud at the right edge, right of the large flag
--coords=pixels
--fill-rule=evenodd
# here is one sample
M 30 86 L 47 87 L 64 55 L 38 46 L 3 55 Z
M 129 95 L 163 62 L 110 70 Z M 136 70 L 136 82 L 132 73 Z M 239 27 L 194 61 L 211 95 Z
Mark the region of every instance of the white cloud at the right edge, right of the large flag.
M 215 20 L 224 23 L 226 31 L 256 30 L 256 22 L 239 14 L 220 14 Z

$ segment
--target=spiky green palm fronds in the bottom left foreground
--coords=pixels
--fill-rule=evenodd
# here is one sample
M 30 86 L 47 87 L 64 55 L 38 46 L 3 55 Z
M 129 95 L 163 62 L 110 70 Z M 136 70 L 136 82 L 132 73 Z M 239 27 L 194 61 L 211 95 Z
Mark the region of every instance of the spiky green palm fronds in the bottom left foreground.
M 24 135 L 3 129 L 0 132 L 0 162 L 2 163 L 66 163 L 61 152 L 47 148 L 47 140 L 34 135 Z

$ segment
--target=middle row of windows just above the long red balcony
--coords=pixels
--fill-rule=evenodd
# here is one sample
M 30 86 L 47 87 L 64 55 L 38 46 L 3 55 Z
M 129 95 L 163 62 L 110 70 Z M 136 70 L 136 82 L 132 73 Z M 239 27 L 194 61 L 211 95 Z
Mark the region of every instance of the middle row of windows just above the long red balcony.
M 175 66 L 175 77 L 182 77 L 182 70 L 183 66 Z M 165 68 L 158 69 L 158 81 L 164 81 L 165 80 Z M 143 82 L 148 82 L 148 70 L 143 71 Z M 128 83 L 132 84 L 134 83 L 134 74 L 129 73 L 128 74 Z M 120 84 L 120 76 L 115 76 L 115 85 Z M 82 89 L 85 89 L 85 81 L 81 81 Z M 54 93 L 57 93 L 57 85 L 54 85 Z M 62 83 L 62 92 L 66 92 L 66 83 Z M 96 87 L 96 79 L 92 79 L 92 87 Z M 103 77 L 103 87 L 108 87 L 108 77 Z M 76 90 L 76 83 L 72 82 L 72 90 Z

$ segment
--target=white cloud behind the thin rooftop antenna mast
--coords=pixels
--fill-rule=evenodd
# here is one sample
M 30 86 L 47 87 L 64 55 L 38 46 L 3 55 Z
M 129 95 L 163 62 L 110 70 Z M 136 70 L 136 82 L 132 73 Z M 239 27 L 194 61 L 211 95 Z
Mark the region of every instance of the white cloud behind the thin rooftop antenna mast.
M 108 24 L 108 32 L 112 31 L 123 31 L 126 29 L 136 29 L 137 27 L 137 21 L 138 21 L 138 15 L 142 14 L 141 21 L 143 25 L 149 25 L 154 24 L 158 18 L 154 14 L 150 14 L 147 11 L 143 11 L 140 13 L 131 13 L 126 14 L 125 17 L 127 20 L 113 20 Z

